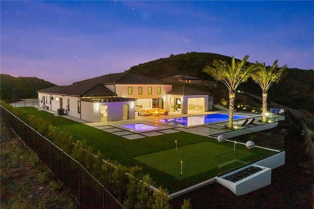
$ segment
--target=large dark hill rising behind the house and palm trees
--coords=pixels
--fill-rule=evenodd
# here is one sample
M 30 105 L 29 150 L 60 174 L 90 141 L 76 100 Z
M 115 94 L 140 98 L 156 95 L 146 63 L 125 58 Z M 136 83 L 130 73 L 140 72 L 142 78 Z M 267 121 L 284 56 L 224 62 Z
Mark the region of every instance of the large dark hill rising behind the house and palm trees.
M 229 56 L 215 53 L 188 52 L 178 55 L 171 54 L 167 58 L 159 58 L 139 64 L 131 67 L 126 72 L 159 79 L 186 74 L 214 81 L 212 77 L 203 72 L 204 67 L 211 65 L 214 59 L 226 60 L 229 63 L 232 60 Z M 263 60 L 257 61 L 262 62 Z M 268 99 L 297 110 L 306 110 L 314 113 L 314 71 L 293 68 L 287 69 L 286 72 L 287 74 L 278 83 L 274 83 L 270 87 Z M 215 103 L 219 103 L 221 98 L 228 100 L 227 88 L 222 82 L 218 82 L 216 89 L 209 89 L 207 86 L 195 84 L 182 85 L 190 85 L 194 88 L 211 92 Z M 252 79 L 241 84 L 238 90 L 262 97 L 260 86 Z

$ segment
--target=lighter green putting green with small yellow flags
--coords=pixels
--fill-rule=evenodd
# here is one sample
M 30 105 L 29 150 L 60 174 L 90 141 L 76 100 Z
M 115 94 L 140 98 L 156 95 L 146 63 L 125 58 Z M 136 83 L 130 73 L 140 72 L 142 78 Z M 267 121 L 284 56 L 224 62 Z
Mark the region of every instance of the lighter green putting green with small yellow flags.
M 178 141 L 180 142 L 180 140 Z M 177 151 L 174 146 L 171 149 L 133 158 L 176 179 L 185 179 L 215 169 L 217 156 L 231 150 L 231 147 L 203 141 L 179 146 Z M 181 174 L 181 160 L 183 161 L 183 174 Z

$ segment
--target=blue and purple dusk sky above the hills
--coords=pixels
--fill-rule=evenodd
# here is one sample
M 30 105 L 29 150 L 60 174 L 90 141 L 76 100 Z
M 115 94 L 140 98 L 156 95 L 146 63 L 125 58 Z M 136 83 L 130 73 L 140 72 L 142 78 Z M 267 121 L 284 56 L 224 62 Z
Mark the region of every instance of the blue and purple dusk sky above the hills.
M 1 74 L 57 85 L 170 54 L 314 69 L 314 1 L 0 1 Z

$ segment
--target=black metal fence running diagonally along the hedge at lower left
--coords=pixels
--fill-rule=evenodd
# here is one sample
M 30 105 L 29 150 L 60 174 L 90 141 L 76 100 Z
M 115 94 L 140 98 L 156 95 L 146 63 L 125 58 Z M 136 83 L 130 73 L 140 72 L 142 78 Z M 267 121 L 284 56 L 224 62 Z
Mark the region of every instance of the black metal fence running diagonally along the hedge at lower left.
M 125 209 L 78 161 L 3 106 L 1 106 L 1 117 L 10 124 L 25 144 L 38 155 L 39 159 L 51 169 L 55 177 L 70 189 L 82 208 Z

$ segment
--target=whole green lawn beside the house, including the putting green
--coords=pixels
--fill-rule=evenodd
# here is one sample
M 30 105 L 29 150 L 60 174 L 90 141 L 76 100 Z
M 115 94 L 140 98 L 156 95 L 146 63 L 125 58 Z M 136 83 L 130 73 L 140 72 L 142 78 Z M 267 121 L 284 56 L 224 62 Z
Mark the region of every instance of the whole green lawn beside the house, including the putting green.
M 50 121 L 60 131 L 71 132 L 75 140 L 86 139 L 87 144 L 94 147 L 95 153 L 99 150 L 105 159 L 117 160 L 125 166 L 143 167 L 156 187 L 161 185 L 170 193 L 217 176 L 218 155 L 234 150 L 232 142 L 219 143 L 216 139 L 187 132 L 129 140 L 34 107 L 19 108 Z M 236 149 L 241 148 L 245 148 L 245 145 L 236 145 Z M 244 159 L 251 154 L 242 153 L 241 156 Z

